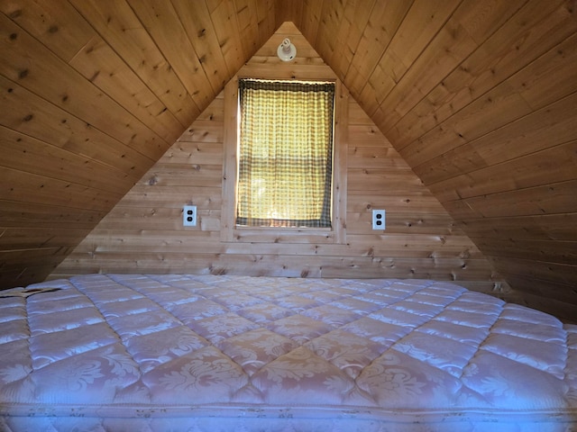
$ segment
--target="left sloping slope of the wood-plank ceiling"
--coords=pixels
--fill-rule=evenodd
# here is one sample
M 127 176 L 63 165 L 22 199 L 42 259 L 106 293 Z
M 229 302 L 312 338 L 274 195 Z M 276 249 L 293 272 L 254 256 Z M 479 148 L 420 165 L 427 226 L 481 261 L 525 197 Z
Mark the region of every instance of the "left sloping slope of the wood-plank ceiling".
M 275 29 L 272 0 L 0 2 L 0 288 L 50 275 Z

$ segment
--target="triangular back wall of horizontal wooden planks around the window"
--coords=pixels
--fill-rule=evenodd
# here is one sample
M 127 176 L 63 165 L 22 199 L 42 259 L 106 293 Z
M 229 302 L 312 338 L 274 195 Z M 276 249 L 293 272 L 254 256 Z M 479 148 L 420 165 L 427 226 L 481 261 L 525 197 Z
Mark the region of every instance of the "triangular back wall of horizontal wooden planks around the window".
M 282 63 L 275 52 L 287 36 L 298 59 Z M 335 78 L 290 23 L 239 75 Z M 343 129 L 343 244 L 319 243 L 306 233 L 295 242 L 281 230 L 275 240 L 223 239 L 224 159 L 231 144 L 224 142 L 225 100 L 223 93 L 215 98 L 51 278 L 94 272 L 421 277 L 507 293 L 507 284 L 344 88 L 336 118 Z M 182 226 L 187 203 L 197 205 L 197 227 Z M 387 211 L 385 231 L 371 229 L 371 209 Z

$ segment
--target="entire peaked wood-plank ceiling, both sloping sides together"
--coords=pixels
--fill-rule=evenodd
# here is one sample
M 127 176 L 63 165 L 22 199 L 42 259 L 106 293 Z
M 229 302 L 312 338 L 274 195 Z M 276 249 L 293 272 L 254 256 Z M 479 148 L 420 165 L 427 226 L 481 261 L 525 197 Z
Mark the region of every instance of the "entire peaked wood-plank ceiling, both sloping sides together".
M 2 287 L 50 275 L 291 21 L 513 288 L 577 305 L 574 0 L 0 8 Z

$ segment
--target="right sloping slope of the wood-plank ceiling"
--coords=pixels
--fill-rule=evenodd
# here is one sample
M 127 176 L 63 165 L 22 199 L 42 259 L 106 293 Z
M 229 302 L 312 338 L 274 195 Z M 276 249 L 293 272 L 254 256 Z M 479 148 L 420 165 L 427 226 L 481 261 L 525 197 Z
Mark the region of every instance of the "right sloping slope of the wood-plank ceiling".
M 296 1 L 286 16 L 523 302 L 577 317 L 577 3 Z

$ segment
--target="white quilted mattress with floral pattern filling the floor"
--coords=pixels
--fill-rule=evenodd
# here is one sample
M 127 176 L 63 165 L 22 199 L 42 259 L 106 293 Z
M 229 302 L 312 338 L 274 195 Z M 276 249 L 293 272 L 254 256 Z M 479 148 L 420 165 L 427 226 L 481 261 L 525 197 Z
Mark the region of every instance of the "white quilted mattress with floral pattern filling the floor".
M 0 296 L 2 431 L 577 430 L 577 326 L 456 284 L 80 275 Z

